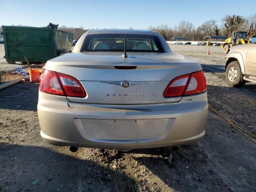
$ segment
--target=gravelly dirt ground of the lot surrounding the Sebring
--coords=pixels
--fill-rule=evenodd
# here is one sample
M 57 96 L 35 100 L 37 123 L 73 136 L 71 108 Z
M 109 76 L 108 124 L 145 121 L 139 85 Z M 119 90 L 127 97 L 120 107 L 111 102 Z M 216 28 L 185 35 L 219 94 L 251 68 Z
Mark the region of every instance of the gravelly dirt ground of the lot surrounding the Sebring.
M 171 48 L 200 62 L 209 104 L 256 134 L 256 84 L 227 86 L 221 48 L 211 46 L 211 55 L 206 55 L 206 46 Z M 1 70 L 12 72 L 1 58 L 0 62 Z M 180 146 L 178 151 L 169 147 L 129 152 L 79 148 L 72 153 L 68 147 L 41 139 L 37 100 L 38 84 L 26 82 L 0 90 L 1 192 L 256 191 L 256 145 L 210 110 L 204 139 Z

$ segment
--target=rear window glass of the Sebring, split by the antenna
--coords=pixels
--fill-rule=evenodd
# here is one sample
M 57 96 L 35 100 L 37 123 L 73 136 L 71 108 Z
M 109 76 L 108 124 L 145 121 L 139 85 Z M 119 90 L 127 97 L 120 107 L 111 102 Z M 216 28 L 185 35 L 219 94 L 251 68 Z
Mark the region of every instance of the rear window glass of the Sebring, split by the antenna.
M 87 35 L 81 51 L 124 51 L 124 34 Z M 127 52 L 164 52 L 154 35 L 126 35 Z

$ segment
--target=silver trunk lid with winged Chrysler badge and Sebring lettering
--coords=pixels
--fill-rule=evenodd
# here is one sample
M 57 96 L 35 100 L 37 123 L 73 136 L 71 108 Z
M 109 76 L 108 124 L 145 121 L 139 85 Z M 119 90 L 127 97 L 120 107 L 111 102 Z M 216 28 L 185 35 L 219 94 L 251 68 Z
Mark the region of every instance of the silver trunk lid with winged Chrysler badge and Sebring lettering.
M 96 104 L 154 104 L 178 102 L 181 97 L 163 96 L 169 82 L 202 70 L 184 56 L 166 53 L 120 52 L 71 53 L 52 59 L 45 68 L 73 76 L 86 90 L 86 98 L 71 102 Z

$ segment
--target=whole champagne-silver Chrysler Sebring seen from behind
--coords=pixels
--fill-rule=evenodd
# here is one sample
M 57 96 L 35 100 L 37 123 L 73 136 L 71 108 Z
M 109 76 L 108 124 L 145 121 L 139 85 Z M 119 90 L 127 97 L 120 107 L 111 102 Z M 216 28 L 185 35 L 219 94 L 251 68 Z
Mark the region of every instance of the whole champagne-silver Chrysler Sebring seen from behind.
M 38 118 L 54 145 L 131 150 L 204 137 L 206 78 L 156 32 L 90 30 L 42 72 Z

